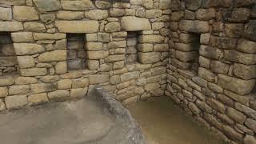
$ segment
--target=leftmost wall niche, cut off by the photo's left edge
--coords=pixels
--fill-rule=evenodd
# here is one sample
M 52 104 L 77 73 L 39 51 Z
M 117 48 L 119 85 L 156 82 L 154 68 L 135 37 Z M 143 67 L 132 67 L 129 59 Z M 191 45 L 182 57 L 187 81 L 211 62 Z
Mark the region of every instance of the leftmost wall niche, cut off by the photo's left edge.
M 18 61 L 10 33 L 0 33 L 0 76 L 15 74 L 17 71 Z

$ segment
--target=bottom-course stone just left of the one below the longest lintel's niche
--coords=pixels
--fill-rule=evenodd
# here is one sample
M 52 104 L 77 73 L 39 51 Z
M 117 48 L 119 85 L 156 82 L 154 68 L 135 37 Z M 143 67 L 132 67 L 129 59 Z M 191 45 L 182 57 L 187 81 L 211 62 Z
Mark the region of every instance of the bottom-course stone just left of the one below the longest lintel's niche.
M 50 101 L 64 101 L 70 98 L 70 92 L 68 90 L 56 90 L 48 93 Z

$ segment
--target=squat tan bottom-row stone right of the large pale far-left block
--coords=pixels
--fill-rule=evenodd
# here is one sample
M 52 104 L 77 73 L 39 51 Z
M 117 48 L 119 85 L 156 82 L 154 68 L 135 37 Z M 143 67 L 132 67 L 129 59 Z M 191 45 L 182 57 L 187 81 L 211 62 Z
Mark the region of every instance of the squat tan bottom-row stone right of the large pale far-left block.
M 28 97 L 28 102 L 29 102 L 29 105 L 31 105 L 31 106 L 41 105 L 41 104 L 48 102 L 48 97 L 47 97 L 46 93 L 31 94 Z

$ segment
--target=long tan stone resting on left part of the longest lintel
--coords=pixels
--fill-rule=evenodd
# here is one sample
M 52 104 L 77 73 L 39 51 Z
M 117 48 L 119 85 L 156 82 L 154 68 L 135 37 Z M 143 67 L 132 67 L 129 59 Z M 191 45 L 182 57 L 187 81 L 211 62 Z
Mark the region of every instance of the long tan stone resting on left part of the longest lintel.
M 58 11 L 58 19 L 63 20 L 78 20 L 84 18 L 84 13 L 79 11 Z

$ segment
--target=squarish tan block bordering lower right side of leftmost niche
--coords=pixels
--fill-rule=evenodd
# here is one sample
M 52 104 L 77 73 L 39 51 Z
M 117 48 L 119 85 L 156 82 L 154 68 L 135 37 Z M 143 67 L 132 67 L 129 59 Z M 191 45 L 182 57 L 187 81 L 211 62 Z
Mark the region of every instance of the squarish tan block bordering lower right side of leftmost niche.
M 34 58 L 32 56 L 18 56 L 18 66 L 22 69 L 35 66 Z

